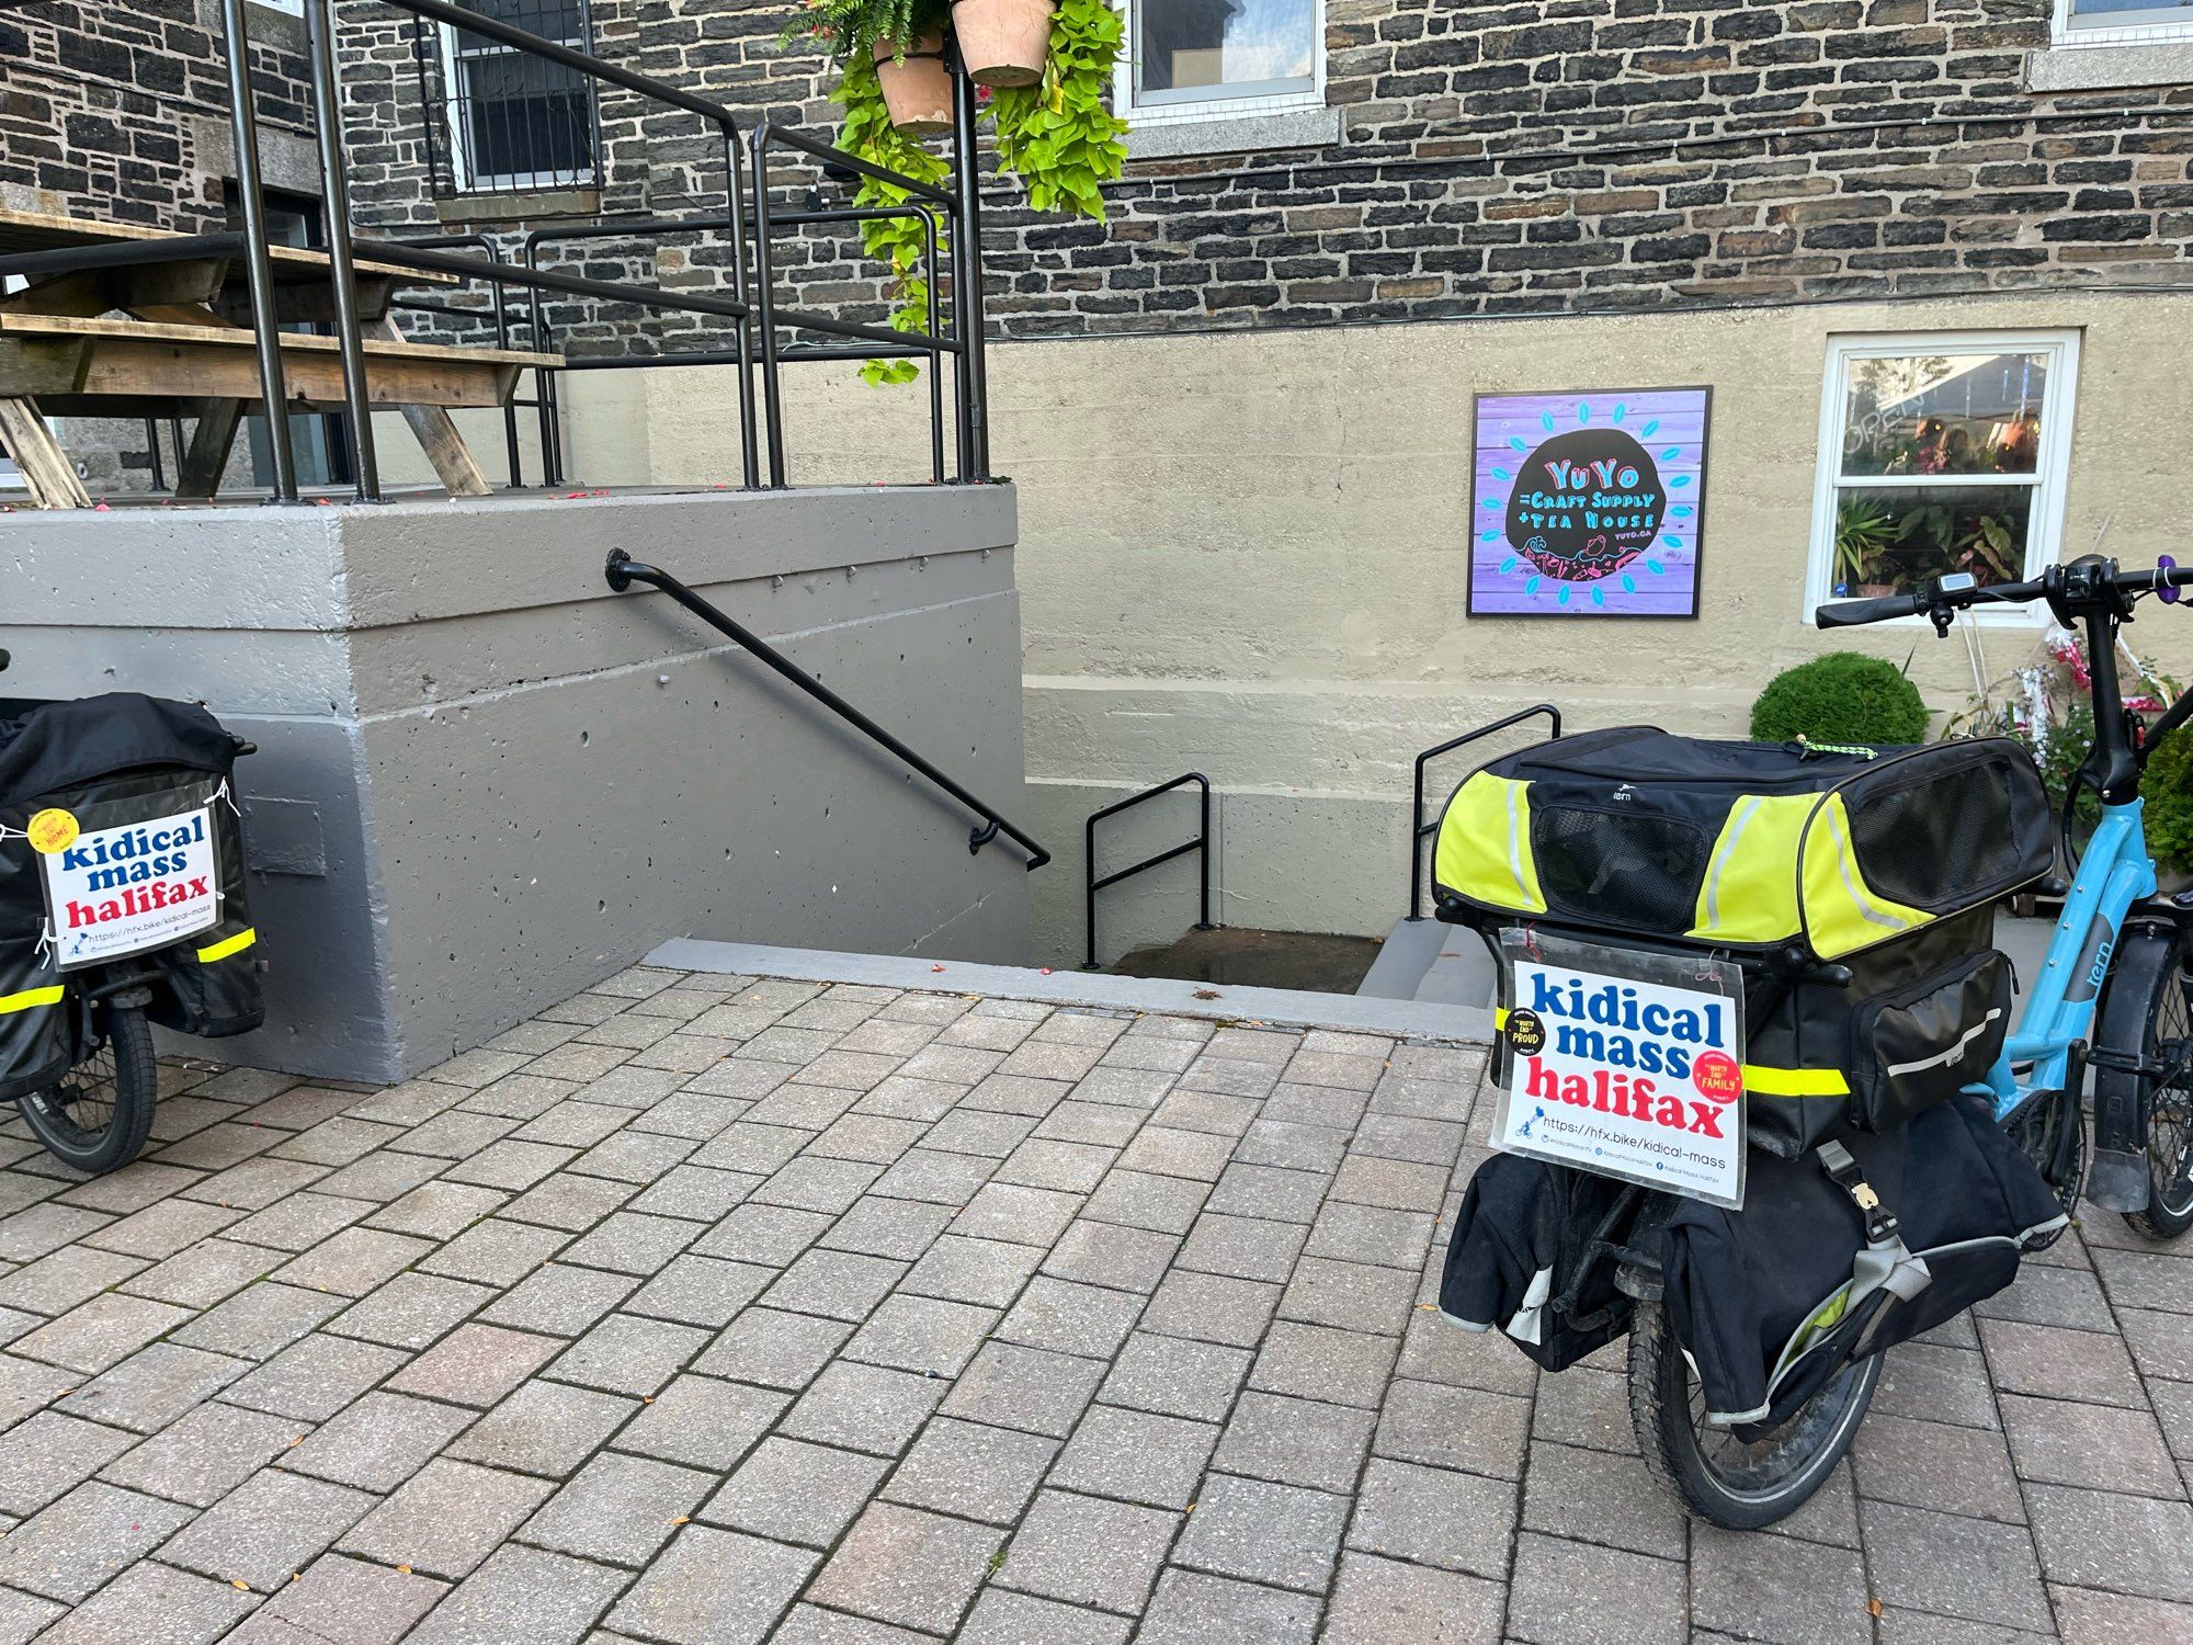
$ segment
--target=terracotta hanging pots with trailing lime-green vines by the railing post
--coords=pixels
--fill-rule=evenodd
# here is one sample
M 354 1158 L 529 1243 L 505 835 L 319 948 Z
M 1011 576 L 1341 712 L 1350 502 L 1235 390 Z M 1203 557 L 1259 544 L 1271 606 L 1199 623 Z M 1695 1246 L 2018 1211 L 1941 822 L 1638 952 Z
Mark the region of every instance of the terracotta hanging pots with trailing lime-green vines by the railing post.
M 952 129 L 945 37 L 958 46 L 998 145 L 998 164 L 1035 211 L 1103 217 L 1103 184 L 1127 160 L 1125 123 L 1110 92 L 1125 26 L 1110 0 L 807 0 L 785 42 L 807 39 L 840 68 L 838 147 L 873 164 L 941 184 L 950 164 L 930 138 Z M 897 206 L 906 191 L 862 178 L 864 206 Z M 893 272 L 890 325 L 928 329 L 919 219 L 862 224 L 871 257 Z M 912 360 L 871 360 L 868 382 L 910 382 Z

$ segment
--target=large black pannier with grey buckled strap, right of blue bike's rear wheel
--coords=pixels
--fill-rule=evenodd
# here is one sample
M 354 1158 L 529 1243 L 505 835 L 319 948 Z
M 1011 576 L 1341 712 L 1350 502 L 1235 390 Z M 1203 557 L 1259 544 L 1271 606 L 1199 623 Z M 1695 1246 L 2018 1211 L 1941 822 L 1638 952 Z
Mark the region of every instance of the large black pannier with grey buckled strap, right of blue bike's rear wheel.
M 1987 1101 L 1958 1092 L 1877 1136 L 1752 1158 L 1741 1211 L 1675 1202 L 1669 1323 L 1708 1417 L 1754 1439 L 1853 1360 L 2000 1292 L 2064 1224 Z

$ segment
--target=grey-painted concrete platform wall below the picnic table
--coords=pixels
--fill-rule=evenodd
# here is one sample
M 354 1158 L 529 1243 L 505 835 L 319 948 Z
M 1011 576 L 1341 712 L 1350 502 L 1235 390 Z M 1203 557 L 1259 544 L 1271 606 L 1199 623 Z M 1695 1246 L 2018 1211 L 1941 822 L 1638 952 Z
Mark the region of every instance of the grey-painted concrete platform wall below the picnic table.
M 1018 963 L 961 807 L 645 590 L 651 559 L 1029 814 L 1013 494 L 489 498 L 9 515 L 9 689 L 206 702 L 243 761 L 268 1029 L 395 1079 L 667 937 Z

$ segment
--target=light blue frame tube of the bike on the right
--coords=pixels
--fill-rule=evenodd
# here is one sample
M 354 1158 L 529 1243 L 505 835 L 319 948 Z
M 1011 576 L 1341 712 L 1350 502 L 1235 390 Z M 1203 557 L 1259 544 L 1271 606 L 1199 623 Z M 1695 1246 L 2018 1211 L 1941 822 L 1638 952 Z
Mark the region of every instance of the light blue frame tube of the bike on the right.
M 2103 805 L 2101 825 L 2079 858 L 2064 915 L 2048 939 L 2048 958 L 2018 1013 L 2018 1029 L 1987 1079 L 1967 1086 L 1993 1101 L 1998 1121 L 2035 1092 L 2064 1090 L 2072 1044 L 2094 1035 L 2094 1009 L 2125 915 L 2154 895 L 2156 862 L 2147 855 L 2140 801 Z M 2026 1079 L 2018 1079 L 2020 1066 L 2029 1068 Z

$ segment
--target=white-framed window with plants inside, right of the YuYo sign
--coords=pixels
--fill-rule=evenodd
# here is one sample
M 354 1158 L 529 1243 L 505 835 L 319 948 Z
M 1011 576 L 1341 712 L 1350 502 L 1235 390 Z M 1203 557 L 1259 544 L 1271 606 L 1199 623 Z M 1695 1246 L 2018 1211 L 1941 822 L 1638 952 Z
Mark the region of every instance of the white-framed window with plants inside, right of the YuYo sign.
M 1943 572 L 2020 581 L 2057 557 L 2077 340 L 1838 340 L 1820 428 L 1814 594 Z

